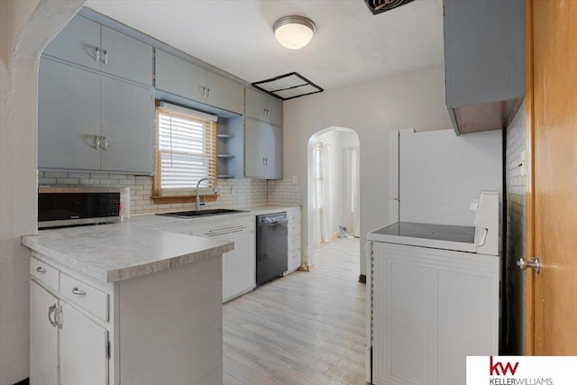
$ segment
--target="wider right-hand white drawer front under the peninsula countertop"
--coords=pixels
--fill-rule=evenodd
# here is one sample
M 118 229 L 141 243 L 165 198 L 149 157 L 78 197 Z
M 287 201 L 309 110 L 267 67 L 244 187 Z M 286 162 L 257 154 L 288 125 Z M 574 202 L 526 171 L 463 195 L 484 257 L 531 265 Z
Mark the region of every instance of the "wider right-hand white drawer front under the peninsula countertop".
M 60 277 L 60 294 L 70 302 L 108 321 L 108 294 L 66 274 Z

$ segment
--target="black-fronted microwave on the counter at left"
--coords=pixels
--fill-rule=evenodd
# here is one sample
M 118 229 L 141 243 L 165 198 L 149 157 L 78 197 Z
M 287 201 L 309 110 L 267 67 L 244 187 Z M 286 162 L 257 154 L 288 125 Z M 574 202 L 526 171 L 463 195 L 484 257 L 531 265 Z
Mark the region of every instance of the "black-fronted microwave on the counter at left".
M 120 188 L 38 188 L 38 228 L 120 221 Z

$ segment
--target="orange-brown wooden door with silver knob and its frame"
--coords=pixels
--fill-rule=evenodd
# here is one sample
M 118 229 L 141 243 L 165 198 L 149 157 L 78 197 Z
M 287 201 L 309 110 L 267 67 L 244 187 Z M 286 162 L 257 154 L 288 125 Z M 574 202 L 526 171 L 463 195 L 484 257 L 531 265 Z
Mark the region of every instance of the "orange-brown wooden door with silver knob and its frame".
M 577 355 L 577 2 L 527 1 L 527 353 Z

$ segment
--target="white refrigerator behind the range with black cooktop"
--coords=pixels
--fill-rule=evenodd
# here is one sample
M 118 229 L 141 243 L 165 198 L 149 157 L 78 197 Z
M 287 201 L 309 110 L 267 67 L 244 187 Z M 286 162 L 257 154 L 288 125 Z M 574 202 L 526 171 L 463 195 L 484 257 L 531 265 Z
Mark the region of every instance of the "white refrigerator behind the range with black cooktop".
M 500 130 L 456 136 L 453 130 L 407 129 L 389 135 L 389 224 L 472 225 L 469 207 L 482 190 L 498 191 L 502 203 Z

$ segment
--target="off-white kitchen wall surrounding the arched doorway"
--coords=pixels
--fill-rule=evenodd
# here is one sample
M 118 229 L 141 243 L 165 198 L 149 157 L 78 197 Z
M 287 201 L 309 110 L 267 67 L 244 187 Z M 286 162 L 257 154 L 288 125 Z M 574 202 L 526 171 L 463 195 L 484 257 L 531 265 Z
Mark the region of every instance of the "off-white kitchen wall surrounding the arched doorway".
M 313 79 L 314 80 L 314 79 Z M 417 69 L 369 82 L 338 87 L 284 103 L 284 176 L 307 180 L 307 143 L 331 126 L 352 128 L 361 147 L 361 248 L 366 234 L 389 221 L 389 130 L 451 128 L 444 106 L 444 67 Z M 304 186 L 304 185 L 303 185 Z M 308 259 L 307 188 L 303 203 L 303 252 Z M 361 274 L 365 274 L 361 252 Z

